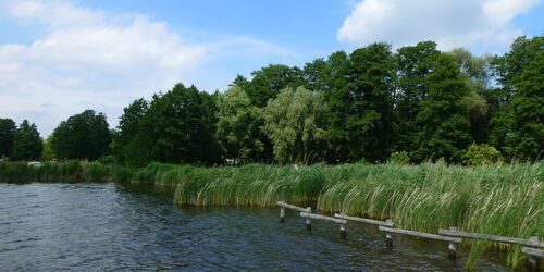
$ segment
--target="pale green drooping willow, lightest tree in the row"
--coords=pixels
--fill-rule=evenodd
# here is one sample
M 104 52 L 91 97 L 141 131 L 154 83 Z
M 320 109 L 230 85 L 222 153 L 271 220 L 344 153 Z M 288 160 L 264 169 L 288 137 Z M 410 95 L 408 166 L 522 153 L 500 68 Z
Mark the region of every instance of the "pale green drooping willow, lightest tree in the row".
M 264 132 L 280 163 L 313 162 L 325 150 L 327 108 L 323 95 L 287 87 L 264 109 Z

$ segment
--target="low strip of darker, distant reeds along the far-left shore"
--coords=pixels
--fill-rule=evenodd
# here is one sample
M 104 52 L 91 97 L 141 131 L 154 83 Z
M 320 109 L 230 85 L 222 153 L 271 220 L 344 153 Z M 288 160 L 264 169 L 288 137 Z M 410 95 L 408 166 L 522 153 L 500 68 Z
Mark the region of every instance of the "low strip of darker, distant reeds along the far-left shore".
M 0 163 L 0 181 L 9 183 L 27 182 L 128 182 L 135 172 L 132 168 L 104 165 L 97 162 L 69 161 L 42 163 L 40 168 L 25 162 Z

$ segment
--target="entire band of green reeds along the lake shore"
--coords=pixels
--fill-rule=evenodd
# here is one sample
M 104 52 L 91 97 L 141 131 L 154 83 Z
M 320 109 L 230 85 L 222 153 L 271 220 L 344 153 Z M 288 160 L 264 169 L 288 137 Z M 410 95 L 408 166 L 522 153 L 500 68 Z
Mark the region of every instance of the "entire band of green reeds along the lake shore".
M 132 170 L 98 163 L 0 164 L 0 181 L 127 181 L 175 188 L 174 202 L 190 206 L 261 206 L 276 201 L 322 212 L 393 219 L 396 227 L 436 233 L 463 231 L 528 238 L 544 237 L 544 163 L 446 165 L 344 164 L 329 166 L 199 168 L 151 163 Z M 508 251 L 517 268 L 526 258 L 519 246 L 463 242 L 470 268 L 490 247 Z

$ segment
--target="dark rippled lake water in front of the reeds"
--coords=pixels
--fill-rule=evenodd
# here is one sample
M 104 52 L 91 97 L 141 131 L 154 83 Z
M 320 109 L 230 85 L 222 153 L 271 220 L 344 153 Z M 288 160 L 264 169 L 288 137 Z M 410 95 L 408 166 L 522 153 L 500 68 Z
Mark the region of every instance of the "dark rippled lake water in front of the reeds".
M 178 208 L 172 193 L 119 184 L 0 184 L 1 271 L 461 271 L 467 252 L 375 227 L 304 220 L 277 209 Z M 506 271 L 504 256 L 477 270 Z

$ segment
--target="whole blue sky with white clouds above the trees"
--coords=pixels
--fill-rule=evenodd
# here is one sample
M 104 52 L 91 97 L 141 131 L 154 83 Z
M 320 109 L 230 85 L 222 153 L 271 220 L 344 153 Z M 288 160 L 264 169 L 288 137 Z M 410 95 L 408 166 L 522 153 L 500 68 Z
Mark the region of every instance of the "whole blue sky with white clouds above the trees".
M 434 40 L 500 54 L 542 35 L 544 0 L 0 0 L 0 118 L 42 137 L 176 83 L 223 91 L 237 75 L 304 66 L 375 41 Z

